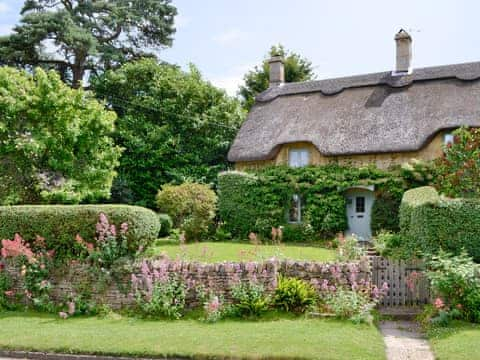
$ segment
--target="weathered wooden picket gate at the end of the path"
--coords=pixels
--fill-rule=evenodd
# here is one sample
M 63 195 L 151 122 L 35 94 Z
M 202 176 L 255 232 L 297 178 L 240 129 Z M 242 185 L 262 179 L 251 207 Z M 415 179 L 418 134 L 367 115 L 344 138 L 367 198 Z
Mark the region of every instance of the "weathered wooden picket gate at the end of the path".
M 381 256 L 371 257 L 372 281 L 379 288 L 389 286 L 380 306 L 419 306 L 430 302 L 430 286 L 422 260 L 393 260 Z

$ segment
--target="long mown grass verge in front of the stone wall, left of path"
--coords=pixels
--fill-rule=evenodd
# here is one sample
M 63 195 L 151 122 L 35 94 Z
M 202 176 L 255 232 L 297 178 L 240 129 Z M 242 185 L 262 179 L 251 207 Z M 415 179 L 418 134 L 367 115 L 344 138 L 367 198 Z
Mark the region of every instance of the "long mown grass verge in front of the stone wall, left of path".
M 116 356 L 385 359 L 374 326 L 323 319 L 147 321 L 0 315 L 0 348 Z

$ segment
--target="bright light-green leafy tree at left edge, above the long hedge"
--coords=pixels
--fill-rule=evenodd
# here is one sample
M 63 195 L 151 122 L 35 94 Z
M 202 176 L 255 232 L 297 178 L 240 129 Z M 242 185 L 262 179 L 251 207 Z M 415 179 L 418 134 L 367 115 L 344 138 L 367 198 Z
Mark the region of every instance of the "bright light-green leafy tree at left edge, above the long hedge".
M 0 204 L 108 197 L 116 115 L 57 73 L 0 67 Z

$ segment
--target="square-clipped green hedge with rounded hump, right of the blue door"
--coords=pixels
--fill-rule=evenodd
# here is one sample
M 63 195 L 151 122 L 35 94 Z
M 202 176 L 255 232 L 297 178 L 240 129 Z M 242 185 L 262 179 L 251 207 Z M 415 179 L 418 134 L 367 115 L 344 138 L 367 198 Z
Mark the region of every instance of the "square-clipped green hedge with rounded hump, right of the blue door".
M 400 227 L 410 254 L 436 254 L 443 249 L 458 255 L 465 249 L 480 261 L 480 199 L 441 198 L 432 187 L 405 193 Z

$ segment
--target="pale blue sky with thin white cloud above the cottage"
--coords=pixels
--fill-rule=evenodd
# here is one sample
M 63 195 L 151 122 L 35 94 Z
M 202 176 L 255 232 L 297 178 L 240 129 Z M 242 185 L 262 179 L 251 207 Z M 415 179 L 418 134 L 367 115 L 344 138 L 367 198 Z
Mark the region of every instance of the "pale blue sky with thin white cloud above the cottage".
M 480 61 L 479 0 L 173 0 L 173 46 L 162 60 L 235 95 L 244 74 L 282 44 L 309 59 L 318 79 L 391 70 L 395 33 L 413 37 L 413 67 Z M 0 35 L 20 0 L 0 0 Z

